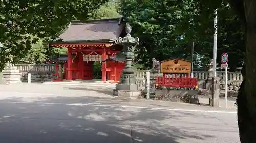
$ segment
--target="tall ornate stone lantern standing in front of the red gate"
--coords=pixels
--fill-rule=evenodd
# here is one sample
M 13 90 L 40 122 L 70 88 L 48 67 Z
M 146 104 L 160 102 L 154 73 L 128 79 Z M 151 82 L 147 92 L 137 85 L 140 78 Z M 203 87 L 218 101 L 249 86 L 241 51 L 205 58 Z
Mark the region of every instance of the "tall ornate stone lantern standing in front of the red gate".
M 139 44 L 138 37 L 131 36 L 132 27 L 129 23 L 126 23 L 125 32 L 127 33 L 125 37 L 119 37 L 115 40 L 115 43 L 123 46 L 123 53 L 125 56 L 125 67 L 122 70 L 122 76 L 120 82 L 116 85 L 113 94 L 115 96 L 122 97 L 138 97 L 140 96 L 140 91 L 138 85 L 135 83 L 136 79 L 134 76 L 135 70 L 132 68 L 132 62 L 134 60 L 134 49 L 136 45 Z

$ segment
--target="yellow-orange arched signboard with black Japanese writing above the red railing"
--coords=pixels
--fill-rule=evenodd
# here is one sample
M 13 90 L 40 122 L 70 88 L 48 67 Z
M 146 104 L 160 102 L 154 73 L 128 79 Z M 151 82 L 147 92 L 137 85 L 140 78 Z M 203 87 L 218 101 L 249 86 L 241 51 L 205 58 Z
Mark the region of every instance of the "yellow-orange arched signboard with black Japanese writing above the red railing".
M 161 62 L 161 73 L 190 73 L 191 62 L 182 59 L 170 59 Z

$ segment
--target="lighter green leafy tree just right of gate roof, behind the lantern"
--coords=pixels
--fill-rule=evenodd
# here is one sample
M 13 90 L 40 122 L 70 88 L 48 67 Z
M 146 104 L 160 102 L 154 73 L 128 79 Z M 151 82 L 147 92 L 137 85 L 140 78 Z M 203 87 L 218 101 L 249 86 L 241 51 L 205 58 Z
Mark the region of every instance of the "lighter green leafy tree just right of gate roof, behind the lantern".
M 167 6 L 168 3 L 171 6 Z M 182 35 L 174 33 L 181 22 L 181 5 L 175 1 L 136 1 L 121 0 L 119 11 L 133 27 L 133 35 L 140 38 L 137 46 L 137 62 L 150 67 L 151 58 L 165 60 L 168 58 L 187 57 L 187 44 Z M 190 45 L 190 44 L 189 44 Z

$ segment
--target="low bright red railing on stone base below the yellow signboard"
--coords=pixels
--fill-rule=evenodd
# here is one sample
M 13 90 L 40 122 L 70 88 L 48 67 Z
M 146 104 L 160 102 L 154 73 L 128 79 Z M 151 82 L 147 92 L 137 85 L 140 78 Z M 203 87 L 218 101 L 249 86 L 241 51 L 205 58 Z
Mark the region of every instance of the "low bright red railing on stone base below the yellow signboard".
M 190 77 L 157 77 L 156 86 L 195 88 L 197 78 Z

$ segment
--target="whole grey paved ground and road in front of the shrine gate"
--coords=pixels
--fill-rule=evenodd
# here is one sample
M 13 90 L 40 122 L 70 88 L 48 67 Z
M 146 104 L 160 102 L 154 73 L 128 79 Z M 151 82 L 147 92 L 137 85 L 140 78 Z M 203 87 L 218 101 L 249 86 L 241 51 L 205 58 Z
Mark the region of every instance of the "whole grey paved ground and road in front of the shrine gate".
M 15 89 L 15 90 L 14 90 Z M 0 86 L 3 142 L 239 142 L 236 111 L 127 100 L 111 90 L 58 85 Z

